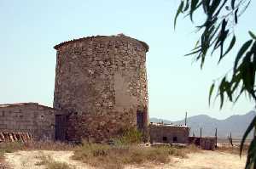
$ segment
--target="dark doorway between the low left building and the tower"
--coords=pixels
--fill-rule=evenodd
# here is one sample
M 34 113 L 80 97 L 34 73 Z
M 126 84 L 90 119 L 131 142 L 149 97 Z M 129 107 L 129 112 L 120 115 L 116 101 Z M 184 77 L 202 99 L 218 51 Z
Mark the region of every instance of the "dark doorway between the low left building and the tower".
M 55 140 L 66 140 L 67 115 L 55 115 Z

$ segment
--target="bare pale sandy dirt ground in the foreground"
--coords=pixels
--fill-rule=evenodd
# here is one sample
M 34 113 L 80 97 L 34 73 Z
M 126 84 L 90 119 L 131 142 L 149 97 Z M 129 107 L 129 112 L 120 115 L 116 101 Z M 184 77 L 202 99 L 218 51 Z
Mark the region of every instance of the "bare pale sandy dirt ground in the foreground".
M 54 161 L 67 162 L 76 169 L 93 168 L 79 161 L 73 161 L 70 157 L 72 151 L 18 151 L 6 154 L 6 161 L 14 169 L 44 169 L 44 166 L 36 166 L 39 156 L 49 155 Z M 219 151 L 201 151 L 200 153 L 189 154 L 189 158 L 172 157 L 169 164 L 152 165 L 142 167 L 127 166 L 125 169 L 154 168 L 154 169 L 241 169 L 244 168 L 246 156 L 227 154 Z

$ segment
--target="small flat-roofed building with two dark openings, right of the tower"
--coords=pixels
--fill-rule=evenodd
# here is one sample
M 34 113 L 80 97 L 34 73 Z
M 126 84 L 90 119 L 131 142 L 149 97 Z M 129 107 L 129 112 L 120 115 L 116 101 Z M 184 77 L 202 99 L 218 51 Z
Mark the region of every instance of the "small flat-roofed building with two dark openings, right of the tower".
M 163 123 L 149 125 L 150 143 L 188 144 L 189 127 Z

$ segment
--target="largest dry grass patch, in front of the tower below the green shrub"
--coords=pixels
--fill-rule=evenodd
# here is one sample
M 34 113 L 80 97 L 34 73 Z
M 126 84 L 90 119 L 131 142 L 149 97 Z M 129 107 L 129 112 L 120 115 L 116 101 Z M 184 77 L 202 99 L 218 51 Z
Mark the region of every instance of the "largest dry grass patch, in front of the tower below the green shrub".
M 125 165 L 142 165 L 143 163 L 168 163 L 170 155 L 186 157 L 188 153 L 198 151 L 189 147 L 177 149 L 170 146 L 146 147 L 137 144 L 108 145 L 84 143 L 74 151 L 73 160 L 83 161 L 90 166 L 106 169 L 121 169 Z

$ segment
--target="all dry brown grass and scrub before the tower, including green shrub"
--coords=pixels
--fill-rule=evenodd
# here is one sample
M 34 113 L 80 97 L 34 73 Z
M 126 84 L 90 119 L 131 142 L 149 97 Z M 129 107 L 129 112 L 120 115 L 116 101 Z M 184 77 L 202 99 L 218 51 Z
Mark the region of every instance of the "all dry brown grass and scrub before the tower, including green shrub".
M 0 159 L 4 158 L 4 153 L 12 153 L 17 150 L 74 150 L 73 160 L 99 168 L 119 169 L 127 165 L 168 163 L 171 161 L 171 155 L 184 158 L 187 157 L 187 154 L 199 150 L 195 146 L 187 148 L 171 147 L 170 145 L 147 146 L 139 144 L 142 140 L 141 136 L 136 130 L 129 130 L 120 138 L 114 138 L 110 144 L 83 142 L 76 146 L 52 142 L 5 143 L 0 144 Z M 43 155 L 38 158 L 40 161 L 37 165 L 44 165 L 49 169 L 73 167 L 63 162 L 53 161 L 49 156 Z

